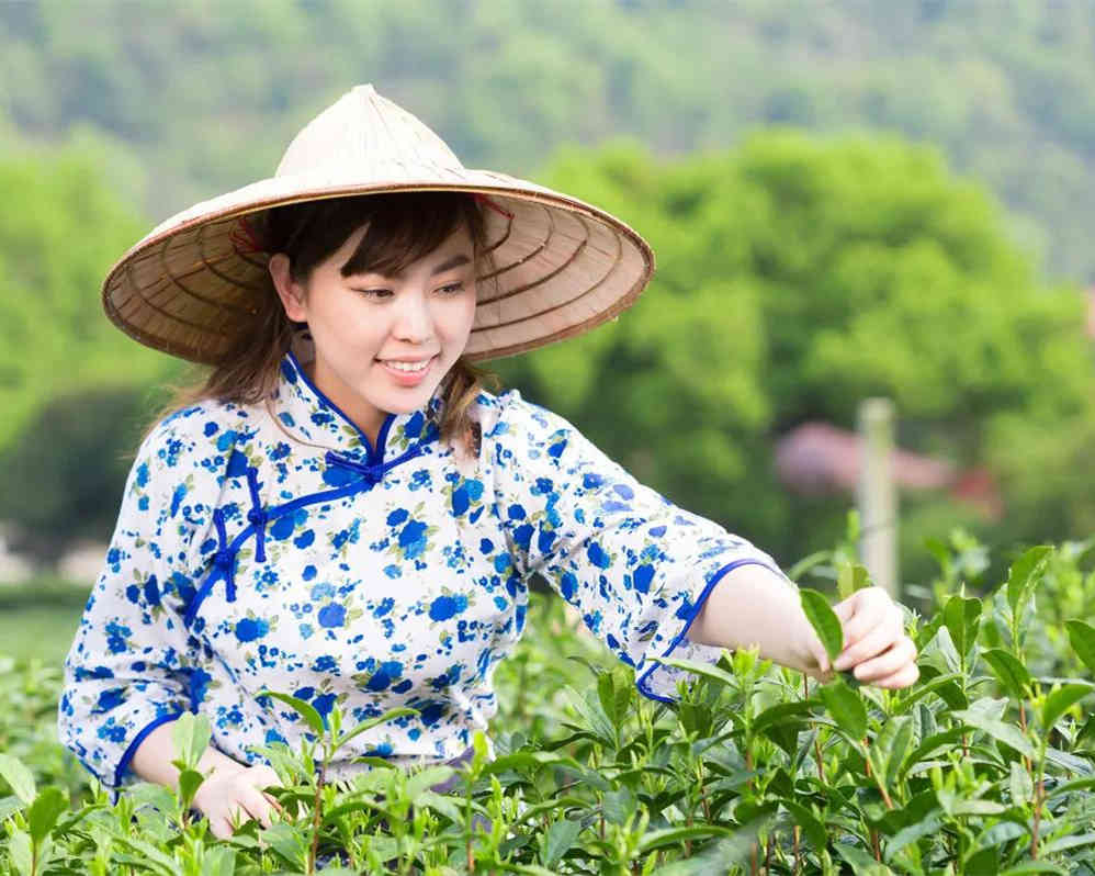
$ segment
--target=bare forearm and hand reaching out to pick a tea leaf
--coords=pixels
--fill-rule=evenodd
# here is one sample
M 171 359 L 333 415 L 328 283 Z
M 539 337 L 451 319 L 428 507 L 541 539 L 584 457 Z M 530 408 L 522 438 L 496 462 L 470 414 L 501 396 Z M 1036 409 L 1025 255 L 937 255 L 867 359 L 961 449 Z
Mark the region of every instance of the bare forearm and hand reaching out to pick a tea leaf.
M 828 656 L 802 610 L 798 592 L 761 565 L 744 565 L 715 584 L 688 628 L 688 638 L 716 648 L 757 647 L 763 658 L 810 675 L 850 670 L 879 687 L 907 687 L 919 677 L 916 647 L 885 591 L 867 587 L 834 606 L 844 650 Z

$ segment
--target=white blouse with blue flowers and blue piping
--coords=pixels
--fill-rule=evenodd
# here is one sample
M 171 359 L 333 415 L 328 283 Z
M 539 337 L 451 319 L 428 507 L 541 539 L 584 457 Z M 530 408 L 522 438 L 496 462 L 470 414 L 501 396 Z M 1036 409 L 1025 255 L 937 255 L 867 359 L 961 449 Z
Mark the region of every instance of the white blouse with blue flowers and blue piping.
M 786 582 L 516 391 L 481 394 L 478 453 L 455 451 L 440 396 L 388 415 L 373 447 L 290 352 L 268 405 L 203 402 L 155 428 L 65 663 L 59 737 L 104 785 L 137 780 L 133 753 L 185 710 L 241 763 L 314 739 L 263 689 L 325 720 L 338 703 L 346 726 L 418 711 L 357 737 L 335 778 L 365 754 L 455 759 L 496 710 L 537 573 L 670 700 L 676 673 L 651 659 L 718 659 L 686 636 L 714 584 L 745 564 Z

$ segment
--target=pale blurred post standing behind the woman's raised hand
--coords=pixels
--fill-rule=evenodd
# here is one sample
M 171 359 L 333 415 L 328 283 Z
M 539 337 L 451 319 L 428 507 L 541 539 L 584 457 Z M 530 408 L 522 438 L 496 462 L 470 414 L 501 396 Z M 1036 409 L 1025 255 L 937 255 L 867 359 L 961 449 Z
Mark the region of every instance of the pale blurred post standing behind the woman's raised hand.
M 893 482 L 893 402 L 866 398 L 859 405 L 859 553 L 871 580 L 894 598 L 898 584 L 898 491 Z

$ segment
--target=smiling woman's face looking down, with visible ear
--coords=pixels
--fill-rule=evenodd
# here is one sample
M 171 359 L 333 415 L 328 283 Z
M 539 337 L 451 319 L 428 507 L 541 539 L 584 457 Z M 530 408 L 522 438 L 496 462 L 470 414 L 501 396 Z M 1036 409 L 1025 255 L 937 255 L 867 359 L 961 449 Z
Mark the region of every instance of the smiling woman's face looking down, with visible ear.
M 475 318 L 475 252 L 461 226 L 398 277 L 343 277 L 366 227 L 304 284 L 281 254 L 270 273 L 289 318 L 308 324 L 313 382 L 375 443 L 385 415 L 422 407 L 464 351 Z

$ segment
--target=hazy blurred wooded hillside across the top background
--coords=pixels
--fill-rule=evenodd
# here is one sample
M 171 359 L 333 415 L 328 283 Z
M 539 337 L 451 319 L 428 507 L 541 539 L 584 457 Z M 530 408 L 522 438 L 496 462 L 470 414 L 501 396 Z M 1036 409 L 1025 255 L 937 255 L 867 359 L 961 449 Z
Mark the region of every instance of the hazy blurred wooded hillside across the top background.
M 772 123 L 887 128 L 984 180 L 1050 273 L 1087 282 L 1093 44 L 1088 0 L 8 2 L 0 117 L 31 142 L 98 132 L 153 220 L 269 176 L 363 81 L 518 175 L 609 135 L 666 155 Z

